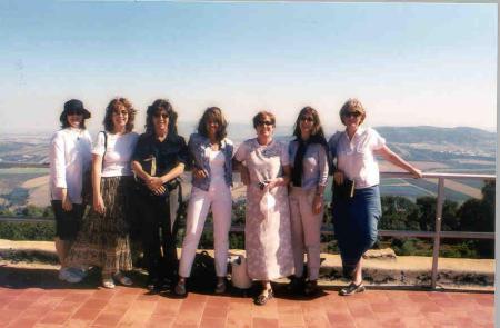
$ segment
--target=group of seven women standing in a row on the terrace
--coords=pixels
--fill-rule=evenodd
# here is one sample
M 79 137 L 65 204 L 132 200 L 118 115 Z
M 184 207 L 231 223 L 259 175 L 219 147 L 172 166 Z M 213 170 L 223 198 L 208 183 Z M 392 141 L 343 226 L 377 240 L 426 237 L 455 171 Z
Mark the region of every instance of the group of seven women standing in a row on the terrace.
M 334 133 L 328 142 L 318 111 L 311 107 L 303 108 L 297 117 L 290 142 L 276 140 L 273 113 L 258 112 L 252 120 L 257 137 L 238 148 L 227 138 L 228 122 L 217 107 L 203 112 L 188 145 L 177 132 L 177 112 L 168 100 L 158 99 L 148 107 L 146 132 L 141 136 L 132 131 L 134 115 L 130 101 L 113 99 L 106 109 L 104 130 L 92 148 L 84 127 L 90 112 L 80 100 L 64 103 L 62 129 L 52 138 L 50 155 L 56 248 L 62 280 L 81 281 L 86 270 L 94 266 L 101 268 L 103 287 L 131 285 L 126 274 L 132 268 L 131 222 L 138 221 L 148 288 L 159 289 L 170 281 L 173 292 L 183 296 L 211 210 L 214 292 L 223 294 L 232 173 L 238 170 L 247 186 L 248 275 L 261 284 L 256 304 L 264 305 L 273 297 L 270 281 L 281 277 L 290 278 L 290 291 L 313 295 L 318 290 L 320 229 L 330 172 L 337 195 L 332 203 L 336 238 L 343 274 L 351 279 L 339 294 L 361 292 L 362 255 L 376 241 L 381 216 L 374 156 L 421 177 L 421 171 L 393 153 L 376 130 L 361 128 L 366 111 L 357 99 L 342 106 L 340 119 L 346 130 Z M 186 168 L 192 172 L 192 189 L 178 260 L 170 196 L 178 190 L 178 177 Z M 82 195 L 82 186 L 90 179 L 86 177 L 90 176 L 91 197 Z M 346 188 L 350 191 L 340 192 Z M 84 215 L 86 199 L 91 207 Z M 139 215 L 133 219 L 133 213 Z

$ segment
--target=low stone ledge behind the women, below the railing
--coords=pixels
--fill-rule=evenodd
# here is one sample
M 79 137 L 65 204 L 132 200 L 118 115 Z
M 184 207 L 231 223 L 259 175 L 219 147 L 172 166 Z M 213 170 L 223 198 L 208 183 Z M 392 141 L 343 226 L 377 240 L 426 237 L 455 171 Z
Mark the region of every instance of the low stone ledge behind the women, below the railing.
M 181 249 L 178 249 L 180 254 Z M 213 256 L 213 250 L 208 252 Z M 231 255 L 244 250 L 230 250 Z M 363 259 L 363 276 L 371 285 L 429 286 L 431 279 L 431 257 L 377 256 Z M 387 254 L 387 252 L 386 252 Z M 390 252 L 389 252 L 390 254 Z M 321 254 L 321 282 L 331 282 L 342 277 L 339 255 Z M 12 241 L 0 239 L 0 260 L 7 262 L 58 264 L 53 242 Z M 493 288 L 494 259 L 439 258 L 438 285 L 441 287 L 476 286 Z

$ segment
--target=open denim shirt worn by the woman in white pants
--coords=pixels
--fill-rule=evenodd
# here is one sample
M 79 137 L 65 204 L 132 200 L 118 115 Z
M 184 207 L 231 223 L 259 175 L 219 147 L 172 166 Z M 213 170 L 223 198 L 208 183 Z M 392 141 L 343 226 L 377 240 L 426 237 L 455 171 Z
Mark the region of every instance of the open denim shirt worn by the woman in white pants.
M 188 148 L 191 156 L 191 162 L 194 168 L 203 169 L 208 172 L 207 178 L 192 177 L 192 186 L 208 191 L 210 188 L 210 158 L 208 150 L 210 149 L 210 139 L 200 133 L 192 133 L 189 137 Z M 228 187 L 232 186 L 232 155 L 234 146 L 229 139 L 221 141 L 220 150 L 224 155 L 224 178 Z

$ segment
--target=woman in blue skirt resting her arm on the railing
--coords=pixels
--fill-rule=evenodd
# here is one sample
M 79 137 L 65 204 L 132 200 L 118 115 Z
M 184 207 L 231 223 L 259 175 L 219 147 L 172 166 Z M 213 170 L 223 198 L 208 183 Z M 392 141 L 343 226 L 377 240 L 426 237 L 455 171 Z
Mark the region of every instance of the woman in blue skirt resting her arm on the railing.
M 332 216 L 343 275 L 351 279 L 339 295 L 349 296 L 364 291 L 362 255 L 376 242 L 377 225 L 382 215 L 374 156 L 381 156 L 416 178 L 421 178 L 422 172 L 392 152 L 376 130 L 361 128 L 367 115 L 358 99 L 346 101 L 339 115 L 346 130 L 329 140 L 331 158 L 337 160 Z

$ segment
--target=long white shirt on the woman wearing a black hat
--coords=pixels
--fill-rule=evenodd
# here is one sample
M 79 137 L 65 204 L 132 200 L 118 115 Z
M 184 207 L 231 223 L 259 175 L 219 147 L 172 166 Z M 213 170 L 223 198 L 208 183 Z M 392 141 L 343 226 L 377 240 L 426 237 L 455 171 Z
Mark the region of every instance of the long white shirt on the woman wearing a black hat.
M 57 131 L 50 141 L 50 195 L 61 200 L 67 189 L 72 203 L 81 203 L 83 172 L 90 169 L 92 139 L 87 130 L 66 128 Z

